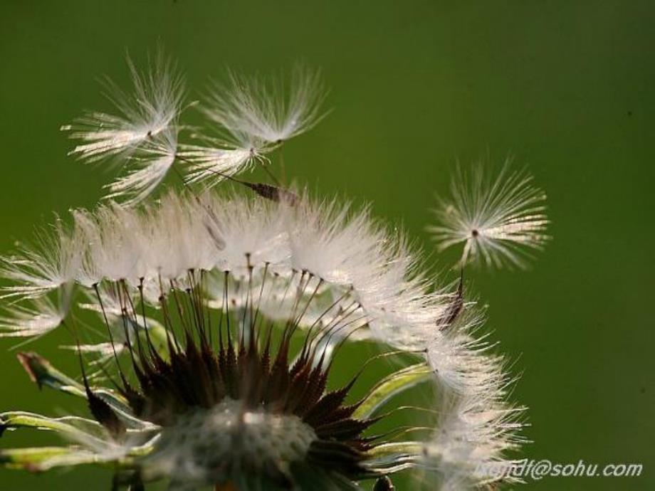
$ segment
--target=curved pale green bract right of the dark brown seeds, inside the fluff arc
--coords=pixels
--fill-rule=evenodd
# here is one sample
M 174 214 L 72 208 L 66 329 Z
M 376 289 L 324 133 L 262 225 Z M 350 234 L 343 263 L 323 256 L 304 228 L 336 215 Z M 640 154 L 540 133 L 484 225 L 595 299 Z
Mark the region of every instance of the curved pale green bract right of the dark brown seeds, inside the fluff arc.
M 429 380 L 431 375 L 432 369 L 424 362 L 394 372 L 371 389 L 352 416 L 358 419 L 370 418 L 389 399 Z

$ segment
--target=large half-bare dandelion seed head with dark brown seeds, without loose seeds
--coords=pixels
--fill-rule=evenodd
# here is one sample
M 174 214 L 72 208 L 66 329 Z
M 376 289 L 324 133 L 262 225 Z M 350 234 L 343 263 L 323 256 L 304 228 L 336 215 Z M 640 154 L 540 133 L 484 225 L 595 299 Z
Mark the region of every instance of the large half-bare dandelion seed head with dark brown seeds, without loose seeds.
M 419 255 L 369 208 L 306 193 L 291 205 L 207 191 L 75 210 L 73 221 L 46 243 L 77 245 L 68 275 L 85 302 L 73 307 L 100 314 L 109 340 L 68 348 L 96 357 L 89 367 L 131 359 L 137 386 L 119 384 L 119 399 L 80 388 L 108 435 L 75 435 L 86 453 L 44 465 L 115 457 L 133 461 L 140 479 L 196 485 L 235 482 L 250 468 L 258 485 L 283 486 L 303 480 L 299 466 L 332 469 L 321 478 L 336 482 L 416 465 L 438 468 L 445 482 L 512 448 L 520 426 L 505 403 L 501 357 L 473 335 L 475 317 L 438 328 L 453 296 L 429 290 Z M 56 328 L 45 321 L 48 307 L 38 307 L 29 312 L 33 329 L 14 329 L 20 312 L 5 328 L 21 336 Z M 302 341 L 292 354 L 294 335 Z M 408 463 L 371 460 L 377 444 L 362 433 L 375 418 L 355 416 L 359 404 L 345 403 L 350 386 L 326 390 L 341 344 L 355 339 L 424 350 L 431 382 L 455 401 Z M 123 380 L 124 368 L 116 369 Z M 344 455 L 339 463 L 335 452 Z

